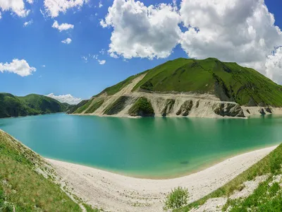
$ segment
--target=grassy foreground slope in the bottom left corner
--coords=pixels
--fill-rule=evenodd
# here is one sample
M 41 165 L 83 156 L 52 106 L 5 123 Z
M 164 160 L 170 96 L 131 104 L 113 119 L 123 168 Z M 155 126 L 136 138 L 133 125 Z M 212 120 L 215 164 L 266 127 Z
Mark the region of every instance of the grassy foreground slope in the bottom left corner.
M 0 161 L 0 211 L 82 211 L 43 159 L 1 130 Z

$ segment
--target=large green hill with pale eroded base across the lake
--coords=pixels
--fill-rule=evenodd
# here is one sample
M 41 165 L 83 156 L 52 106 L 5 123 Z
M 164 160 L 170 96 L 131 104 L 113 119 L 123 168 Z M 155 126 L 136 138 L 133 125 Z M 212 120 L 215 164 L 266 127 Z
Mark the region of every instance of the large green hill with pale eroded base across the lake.
M 124 97 L 118 100 L 114 98 L 115 96 Z M 81 102 L 80 107 L 73 113 L 121 116 L 148 114 L 148 111 L 141 109 L 138 111 L 134 105 L 141 97 L 147 98 L 147 102 L 152 105 L 152 108 L 149 108 L 146 103 L 147 110 L 150 111 L 149 116 L 154 114 L 162 116 L 185 114 L 186 116 L 192 114 L 194 109 L 194 115 L 198 116 L 197 113 L 200 116 L 200 108 L 204 107 L 201 106 L 201 102 L 221 116 L 238 116 L 238 114 L 243 116 L 242 111 L 239 112 L 239 107 L 234 105 L 235 102 L 239 106 L 280 107 L 282 86 L 254 69 L 233 62 L 222 62 L 215 58 L 179 58 L 130 76 L 125 81 L 106 88 L 88 102 Z M 164 98 L 165 101 L 161 102 L 160 98 Z M 202 101 L 216 99 L 221 103 Z M 233 105 L 226 102 L 233 102 Z M 140 105 L 140 101 L 136 104 Z M 132 114 L 130 114 L 130 111 L 133 111 L 130 110 L 130 106 L 135 107 L 135 112 Z M 234 113 L 234 110 L 237 112 Z

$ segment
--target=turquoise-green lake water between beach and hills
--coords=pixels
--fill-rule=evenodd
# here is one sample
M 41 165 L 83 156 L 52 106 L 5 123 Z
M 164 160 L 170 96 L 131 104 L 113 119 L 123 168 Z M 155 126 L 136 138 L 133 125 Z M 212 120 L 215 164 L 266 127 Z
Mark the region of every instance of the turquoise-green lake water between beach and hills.
M 42 116 L 0 129 L 47 158 L 137 177 L 175 177 L 282 141 L 282 117 L 250 119 Z

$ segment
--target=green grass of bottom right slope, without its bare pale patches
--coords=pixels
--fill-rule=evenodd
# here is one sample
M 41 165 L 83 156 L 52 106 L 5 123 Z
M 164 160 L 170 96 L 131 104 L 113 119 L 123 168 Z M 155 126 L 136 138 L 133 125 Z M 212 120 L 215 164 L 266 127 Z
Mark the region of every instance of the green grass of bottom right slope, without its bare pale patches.
M 204 198 L 181 208 L 178 211 L 190 211 L 191 208 L 204 204 L 208 199 L 230 196 L 235 190 L 241 190 L 243 182 L 255 179 L 257 176 L 269 175 L 265 182 L 259 184 L 255 192 L 247 199 L 228 200 L 223 209 L 233 206 L 232 211 L 280 211 L 282 204 L 282 189 L 277 184 L 269 186 L 274 176 L 282 175 L 282 144 L 265 158 L 233 180 Z

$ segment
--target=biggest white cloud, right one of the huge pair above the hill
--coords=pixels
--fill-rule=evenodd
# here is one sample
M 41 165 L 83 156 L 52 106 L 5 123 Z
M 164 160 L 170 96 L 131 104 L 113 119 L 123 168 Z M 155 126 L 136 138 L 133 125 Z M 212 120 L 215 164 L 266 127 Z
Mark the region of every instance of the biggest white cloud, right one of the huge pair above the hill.
M 257 67 L 282 44 L 264 0 L 186 0 L 180 6 L 185 27 L 181 45 L 190 57 L 216 57 Z

